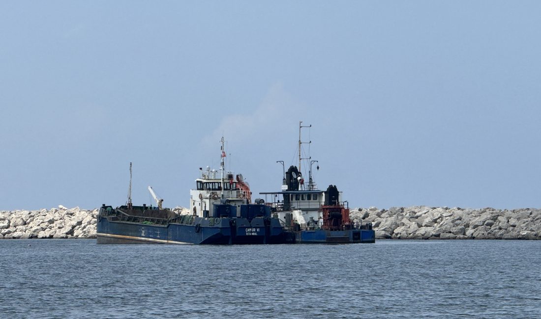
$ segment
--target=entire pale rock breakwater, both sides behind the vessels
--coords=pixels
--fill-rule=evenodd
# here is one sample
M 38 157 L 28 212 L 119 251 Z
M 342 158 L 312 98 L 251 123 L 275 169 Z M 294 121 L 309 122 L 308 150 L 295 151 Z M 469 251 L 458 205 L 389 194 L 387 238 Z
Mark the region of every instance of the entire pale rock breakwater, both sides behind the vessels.
M 180 213 L 182 207 L 173 211 Z M 98 209 L 79 207 L 0 212 L 0 239 L 95 238 Z M 376 207 L 352 209 L 377 239 L 541 239 L 541 209 Z

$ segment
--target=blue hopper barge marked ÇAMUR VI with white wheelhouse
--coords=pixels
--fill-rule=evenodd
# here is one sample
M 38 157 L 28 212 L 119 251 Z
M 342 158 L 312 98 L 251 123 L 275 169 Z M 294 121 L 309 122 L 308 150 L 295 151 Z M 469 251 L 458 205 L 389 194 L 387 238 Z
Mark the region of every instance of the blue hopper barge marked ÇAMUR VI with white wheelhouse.
M 272 218 L 271 207 L 261 200 L 250 203 L 252 192 L 242 174 L 225 171 L 221 139 L 219 171 L 199 168 L 196 188 L 190 191 L 190 209 L 177 214 L 162 208 L 163 199 L 149 186 L 157 207 L 134 206 L 130 186 L 126 205 L 102 205 L 98 214 L 97 243 L 195 243 L 265 244 L 292 243 L 294 237 Z

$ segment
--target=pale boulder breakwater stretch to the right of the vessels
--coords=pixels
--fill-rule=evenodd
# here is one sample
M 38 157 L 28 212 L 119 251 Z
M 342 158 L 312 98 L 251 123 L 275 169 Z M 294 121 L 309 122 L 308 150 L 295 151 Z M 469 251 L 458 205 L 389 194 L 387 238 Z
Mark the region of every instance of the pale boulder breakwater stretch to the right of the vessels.
M 541 239 L 541 209 L 376 207 L 353 209 L 377 239 Z

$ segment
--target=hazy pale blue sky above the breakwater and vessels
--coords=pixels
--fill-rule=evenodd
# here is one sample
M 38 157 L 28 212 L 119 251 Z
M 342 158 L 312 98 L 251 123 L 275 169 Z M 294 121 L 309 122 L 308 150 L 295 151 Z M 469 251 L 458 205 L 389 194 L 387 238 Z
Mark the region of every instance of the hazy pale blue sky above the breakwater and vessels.
M 2 1 L 0 210 L 187 206 L 199 167 L 349 207 L 541 207 L 539 1 Z M 302 168 L 305 171 L 305 167 Z M 307 172 L 305 172 L 305 176 Z M 254 195 L 254 196 L 255 196 Z

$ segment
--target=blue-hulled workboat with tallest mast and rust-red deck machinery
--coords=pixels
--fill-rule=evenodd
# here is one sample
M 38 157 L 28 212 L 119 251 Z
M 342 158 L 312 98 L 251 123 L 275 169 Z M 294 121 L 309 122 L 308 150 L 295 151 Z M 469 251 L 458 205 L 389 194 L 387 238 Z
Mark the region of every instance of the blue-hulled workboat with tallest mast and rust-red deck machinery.
M 349 219 L 349 204 L 342 201 L 342 193 L 336 185 L 329 185 L 321 191 L 312 179 L 312 157 L 306 183 L 300 171 L 301 128 L 299 122 L 299 167 L 283 169 L 282 187 L 279 192 L 263 192 L 271 197 L 267 206 L 271 207 L 273 218 L 278 218 L 288 233 L 293 233 L 296 243 L 373 243 L 375 232 L 371 222 L 353 222 Z M 311 143 L 309 141 L 308 143 Z M 283 165 L 283 161 L 276 161 Z M 319 165 L 317 166 L 319 170 Z M 262 202 L 265 202 L 261 200 Z

